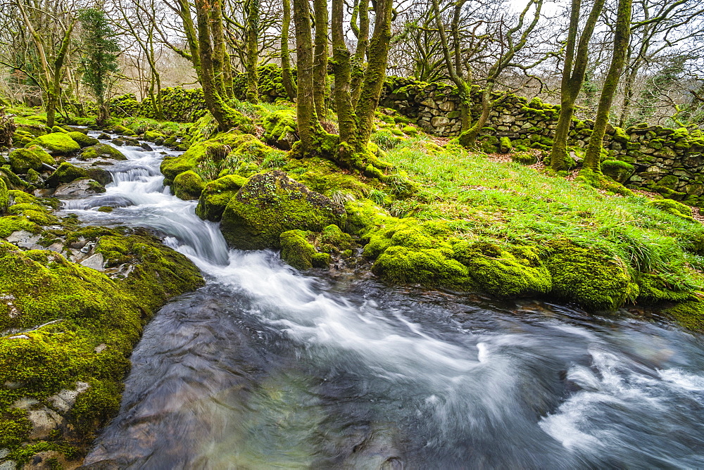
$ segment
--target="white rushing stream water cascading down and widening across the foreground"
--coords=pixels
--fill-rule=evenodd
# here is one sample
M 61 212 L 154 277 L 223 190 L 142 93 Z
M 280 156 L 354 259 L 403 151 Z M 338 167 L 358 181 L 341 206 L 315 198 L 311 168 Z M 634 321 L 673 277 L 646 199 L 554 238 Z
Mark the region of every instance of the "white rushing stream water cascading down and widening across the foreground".
M 208 284 L 146 327 L 120 413 L 86 464 L 704 466 L 700 336 L 529 300 L 304 276 L 276 253 L 228 250 L 194 202 L 170 196 L 159 152 L 121 150 L 129 160 L 108 167 L 107 192 L 65 210 L 155 229 Z

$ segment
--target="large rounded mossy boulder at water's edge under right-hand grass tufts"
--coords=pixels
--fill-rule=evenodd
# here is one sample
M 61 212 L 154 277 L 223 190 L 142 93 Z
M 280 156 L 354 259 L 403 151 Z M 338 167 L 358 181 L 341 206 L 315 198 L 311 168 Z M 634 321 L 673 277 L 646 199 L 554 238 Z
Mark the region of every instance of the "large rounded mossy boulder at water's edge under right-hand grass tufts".
M 545 247 L 553 296 L 590 310 L 615 310 L 638 295 L 637 284 L 618 258 L 567 239 L 548 241 Z

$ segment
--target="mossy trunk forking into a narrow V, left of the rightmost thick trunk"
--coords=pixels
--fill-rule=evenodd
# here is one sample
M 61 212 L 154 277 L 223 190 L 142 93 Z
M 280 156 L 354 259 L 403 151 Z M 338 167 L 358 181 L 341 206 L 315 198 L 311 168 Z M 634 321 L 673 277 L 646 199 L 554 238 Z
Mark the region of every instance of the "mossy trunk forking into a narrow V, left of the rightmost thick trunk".
M 579 36 L 579 13 L 582 9 L 581 0 L 572 0 L 570 6 L 570 29 L 567 32 L 565 44 L 565 63 L 562 65 L 562 82 L 560 84 L 560 116 L 553 136 L 553 148 L 550 154 L 550 166 L 555 171 L 567 170 L 572 165 L 567 153 L 567 139 L 570 136 L 570 125 L 574 115 L 574 103 L 584 83 L 586 65 L 589 59 L 589 41 L 594 32 L 596 22 L 604 7 L 604 0 L 594 0 L 589 18 L 584 23 Z M 577 51 L 575 52 L 575 46 Z

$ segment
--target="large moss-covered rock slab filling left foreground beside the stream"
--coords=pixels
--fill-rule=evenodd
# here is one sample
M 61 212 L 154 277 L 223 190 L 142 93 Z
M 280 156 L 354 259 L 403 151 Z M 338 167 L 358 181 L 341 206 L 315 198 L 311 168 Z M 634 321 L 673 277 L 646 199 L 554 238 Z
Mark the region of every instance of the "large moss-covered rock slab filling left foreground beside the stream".
M 89 231 L 110 232 L 90 227 L 75 236 Z M 62 412 L 65 426 L 52 431 L 49 443 L 73 457 L 84 455 L 119 408 L 121 381 L 144 321 L 168 298 L 203 285 L 199 270 L 155 237 L 103 236 L 96 250 L 107 254 L 99 248 L 103 240 L 130 257 L 134 269 L 126 279 L 110 279 L 52 251 L 23 251 L 0 241 L 0 295 L 6 299 L 0 329 L 23 331 L 21 338 L 0 338 L 0 380 L 15 384 L 0 390 L 0 445 L 10 455 L 28 450 L 29 458 L 32 445 L 46 444 L 22 446 L 32 426 L 12 404 L 45 401 L 73 390 L 77 381 L 85 387 L 70 412 Z

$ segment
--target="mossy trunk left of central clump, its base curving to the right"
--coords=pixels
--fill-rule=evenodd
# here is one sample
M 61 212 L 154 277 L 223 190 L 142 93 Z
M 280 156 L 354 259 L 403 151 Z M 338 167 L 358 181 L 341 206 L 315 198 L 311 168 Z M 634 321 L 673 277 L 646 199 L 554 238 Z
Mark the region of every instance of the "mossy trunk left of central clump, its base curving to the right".
M 210 114 L 218 121 L 220 130 L 227 131 L 238 127 L 243 122 L 243 116 L 227 106 L 220 96 L 220 90 L 215 82 L 213 70 L 213 40 L 210 31 L 210 8 L 208 0 L 196 0 L 196 24 L 198 26 L 198 51 L 200 62 L 200 80 L 203 87 L 203 97 Z

